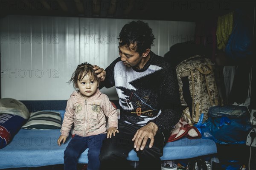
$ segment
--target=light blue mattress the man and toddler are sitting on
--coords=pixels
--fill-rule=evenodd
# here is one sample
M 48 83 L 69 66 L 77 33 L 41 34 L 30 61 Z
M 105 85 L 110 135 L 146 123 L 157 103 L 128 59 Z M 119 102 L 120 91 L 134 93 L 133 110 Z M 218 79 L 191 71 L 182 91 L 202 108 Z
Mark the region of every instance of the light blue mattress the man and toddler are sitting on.
M 60 112 L 63 117 L 64 111 Z M 71 137 L 58 146 L 60 134 L 60 130 L 20 129 L 12 142 L 0 150 L 0 169 L 63 164 L 64 150 Z M 87 150 L 81 154 L 79 163 L 88 163 Z M 182 138 L 166 144 L 161 160 L 188 159 L 213 153 L 217 153 L 217 148 L 212 140 Z M 139 160 L 133 150 L 127 159 Z

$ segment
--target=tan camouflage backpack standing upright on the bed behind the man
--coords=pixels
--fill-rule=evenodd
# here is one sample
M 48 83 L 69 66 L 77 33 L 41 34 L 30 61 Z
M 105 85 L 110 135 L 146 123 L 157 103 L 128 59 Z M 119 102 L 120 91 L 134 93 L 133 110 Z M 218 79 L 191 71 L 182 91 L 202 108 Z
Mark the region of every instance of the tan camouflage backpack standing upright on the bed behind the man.
M 210 59 L 195 55 L 183 60 L 176 67 L 181 105 L 187 106 L 183 110 L 182 118 L 190 125 L 198 122 L 201 113 L 204 113 L 203 121 L 207 120 L 209 108 L 219 105 L 218 88 L 212 69 L 213 65 Z M 192 98 L 190 109 L 185 101 L 187 96 L 184 99 L 183 95 L 183 91 L 186 90 L 183 87 L 185 79 L 189 86 L 188 95 L 190 94 Z M 191 111 L 192 113 L 190 113 Z

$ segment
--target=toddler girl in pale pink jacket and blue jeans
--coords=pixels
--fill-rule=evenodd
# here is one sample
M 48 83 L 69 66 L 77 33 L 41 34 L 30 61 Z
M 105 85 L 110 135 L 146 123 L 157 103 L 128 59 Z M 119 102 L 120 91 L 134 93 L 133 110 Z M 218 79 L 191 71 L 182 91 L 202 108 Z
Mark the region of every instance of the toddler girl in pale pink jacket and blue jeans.
M 58 145 L 64 143 L 70 133 L 75 136 L 64 151 L 64 169 L 76 170 L 77 160 L 88 147 L 87 170 L 99 169 L 99 153 L 103 140 L 111 137 L 117 130 L 117 112 L 108 96 L 99 91 L 99 81 L 93 66 L 84 62 L 77 66 L 69 82 L 79 90 L 74 91 L 67 101 L 66 112 L 61 126 Z M 108 117 L 109 128 L 106 127 Z

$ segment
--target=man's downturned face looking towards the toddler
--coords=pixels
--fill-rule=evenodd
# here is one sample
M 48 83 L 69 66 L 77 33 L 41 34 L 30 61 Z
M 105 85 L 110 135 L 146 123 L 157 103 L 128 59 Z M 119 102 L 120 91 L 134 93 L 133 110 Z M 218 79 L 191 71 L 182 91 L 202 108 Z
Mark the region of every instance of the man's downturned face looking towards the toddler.
M 119 56 L 121 57 L 121 61 L 124 65 L 126 65 L 127 67 L 134 67 L 140 65 L 140 62 L 143 59 L 143 57 L 140 56 L 140 54 L 137 51 L 133 50 L 133 44 L 130 45 L 130 48 L 126 48 L 125 45 L 118 46 L 118 48 Z

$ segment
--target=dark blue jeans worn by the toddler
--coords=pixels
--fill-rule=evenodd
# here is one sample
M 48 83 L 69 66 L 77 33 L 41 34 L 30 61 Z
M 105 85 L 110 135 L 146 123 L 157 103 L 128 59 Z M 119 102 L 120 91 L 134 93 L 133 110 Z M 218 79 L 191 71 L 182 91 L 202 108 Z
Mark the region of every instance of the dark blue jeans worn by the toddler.
M 64 170 L 76 170 L 78 158 L 87 147 L 89 148 L 87 170 L 98 170 L 100 164 L 99 153 L 106 136 L 106 134 L 87 137 L 75 135 L 64 151 Z

